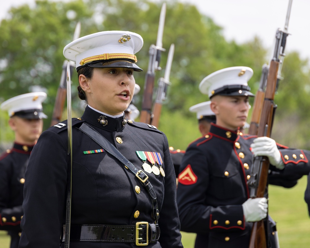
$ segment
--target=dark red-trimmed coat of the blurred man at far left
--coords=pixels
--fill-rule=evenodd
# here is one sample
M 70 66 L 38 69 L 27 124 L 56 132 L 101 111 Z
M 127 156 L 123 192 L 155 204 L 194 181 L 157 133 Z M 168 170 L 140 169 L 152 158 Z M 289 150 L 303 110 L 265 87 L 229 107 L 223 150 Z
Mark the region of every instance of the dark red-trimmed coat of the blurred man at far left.
M 20 239 L 25 170 L 32 148 L 14 143 L 0 156 L 0 230 L 8 231 L 11 248 L 17 248 Z

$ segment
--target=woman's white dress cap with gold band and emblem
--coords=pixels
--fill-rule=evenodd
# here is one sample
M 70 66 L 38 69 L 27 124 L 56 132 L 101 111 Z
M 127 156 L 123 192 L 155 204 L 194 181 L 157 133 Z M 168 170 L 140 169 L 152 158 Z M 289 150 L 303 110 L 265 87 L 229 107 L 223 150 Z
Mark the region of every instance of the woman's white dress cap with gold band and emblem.
M 103 31 L 86 35 L 69 43 L 64 47 L 64 56 L 76 63 L 76 69 L 80 66 L 100 62 L 100 60 L 115 61 L 116 59 L 130 60 L 133 68 L 140 69 L 135 65 L 137 62 L 135 53 L 142 46 L 143 39 L 137 33 L 129 31 Z

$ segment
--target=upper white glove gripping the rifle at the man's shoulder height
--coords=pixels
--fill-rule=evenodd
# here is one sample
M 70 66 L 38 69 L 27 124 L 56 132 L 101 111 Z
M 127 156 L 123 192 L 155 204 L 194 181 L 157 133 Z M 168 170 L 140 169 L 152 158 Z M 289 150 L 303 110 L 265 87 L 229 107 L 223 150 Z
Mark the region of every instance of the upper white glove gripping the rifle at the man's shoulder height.
M 258 137 L 253 140 L 250 146 L 255 156 L 266 156 L 270 164 L 276 166 L 279 170 L 284 169 L 284 163 L 281 158 L 281 153 L 277 148 L 276 141 L 268 137 Z

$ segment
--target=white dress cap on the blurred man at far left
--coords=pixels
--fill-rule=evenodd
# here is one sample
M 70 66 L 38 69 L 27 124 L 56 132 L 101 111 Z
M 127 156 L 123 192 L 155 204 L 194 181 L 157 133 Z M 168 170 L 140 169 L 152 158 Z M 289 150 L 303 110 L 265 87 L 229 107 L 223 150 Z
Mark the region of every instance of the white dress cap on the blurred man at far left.
M 14 96 L 0 105 L 7 110 L 10 117 L 16 115 L 26 119 L 42 119 L 47 116 L 42 112 L 42 102 L 46 99 L 45 92 L 31 92 Z

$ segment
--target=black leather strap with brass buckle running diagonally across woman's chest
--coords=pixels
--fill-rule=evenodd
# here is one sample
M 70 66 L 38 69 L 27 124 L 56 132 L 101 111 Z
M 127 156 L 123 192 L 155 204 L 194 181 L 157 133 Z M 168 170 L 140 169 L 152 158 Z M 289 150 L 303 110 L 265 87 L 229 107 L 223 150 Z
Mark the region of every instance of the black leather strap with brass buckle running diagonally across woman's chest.
M 153 189 L 152 184 L 148 180 L 148 176 L 142 170 L 138 170 L 122 153 L 120 153 L 117 148 L 111 144 L 104 136 L 102 136 L 99 132 L 93 129 L 91 126 L 87 125 L 85 122 L 80 126 L 79 130 L 88 135 L 91 139 L 93 139 L 96 143 L 98 143 L 104 150 L 120 161 L 122 164 L 126 166 L 135 176 L 139 178 L 140 183 L 146 188 L 152 203 L 152 219 L 155 220 L 155 223 L 158 222 L 159 218 L 159 210 L 156 199 L 156 193 Z

